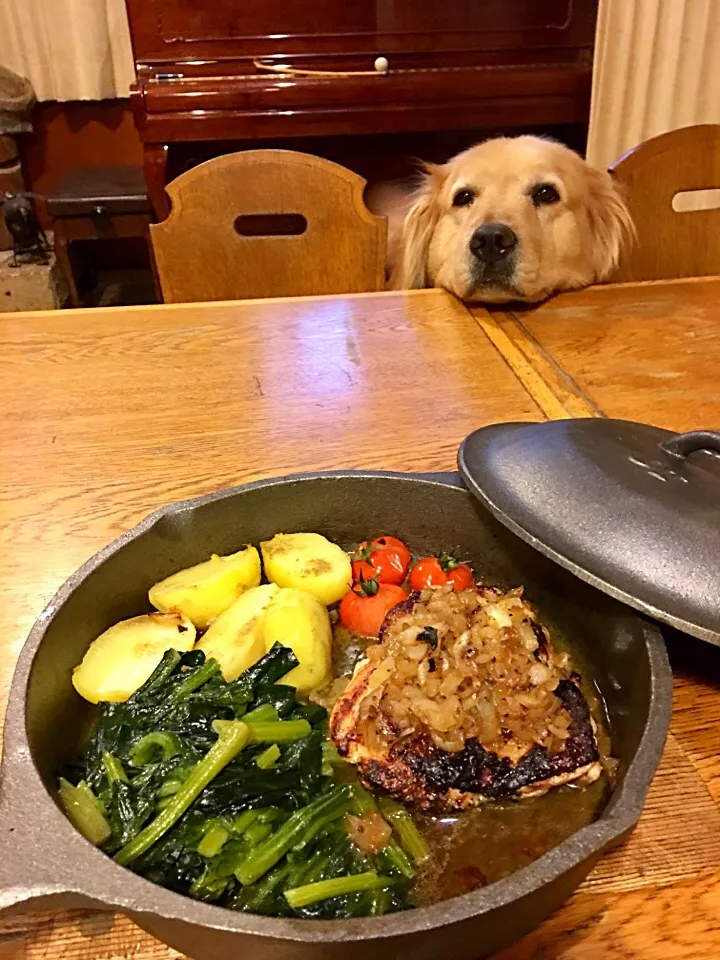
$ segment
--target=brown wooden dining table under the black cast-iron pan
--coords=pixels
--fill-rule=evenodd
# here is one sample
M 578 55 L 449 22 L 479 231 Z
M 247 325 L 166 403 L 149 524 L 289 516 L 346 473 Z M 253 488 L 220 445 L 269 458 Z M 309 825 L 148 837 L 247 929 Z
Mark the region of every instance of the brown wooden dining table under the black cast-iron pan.
M 0 315 L 0 720 L 43 606 L 155 508 L 304 470 L 451 470 L 498 421 L 718 428 L 719 333 L 713 278 L 535 308 L 428 290 Z M 720 957 L 720 650 L 667 644 L 674 716 L 637 830 L 502 960 Z M 179 956 L 111 912 L 0 916 L 0 960 Z

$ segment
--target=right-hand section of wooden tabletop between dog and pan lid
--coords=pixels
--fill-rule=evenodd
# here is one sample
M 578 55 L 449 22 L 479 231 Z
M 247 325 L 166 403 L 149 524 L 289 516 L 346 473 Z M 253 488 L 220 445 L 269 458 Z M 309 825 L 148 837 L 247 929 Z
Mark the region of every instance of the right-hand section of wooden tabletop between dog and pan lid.
M 566 415 L 720 427 L 718 277 L 593 287 L 492 322 Z

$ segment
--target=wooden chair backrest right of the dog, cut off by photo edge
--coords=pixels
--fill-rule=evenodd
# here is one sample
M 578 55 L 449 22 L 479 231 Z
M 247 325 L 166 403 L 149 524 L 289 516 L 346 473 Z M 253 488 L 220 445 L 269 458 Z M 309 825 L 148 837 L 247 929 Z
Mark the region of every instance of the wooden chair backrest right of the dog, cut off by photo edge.
M 646 140 L 610 167 L 637 227 L 618 280 L 720 274 L 720 200 L 698 209 L 691 191 L 720 191 L 720 125 L 683 127 Z M 717 196 L 720 196 L 718 193 Z

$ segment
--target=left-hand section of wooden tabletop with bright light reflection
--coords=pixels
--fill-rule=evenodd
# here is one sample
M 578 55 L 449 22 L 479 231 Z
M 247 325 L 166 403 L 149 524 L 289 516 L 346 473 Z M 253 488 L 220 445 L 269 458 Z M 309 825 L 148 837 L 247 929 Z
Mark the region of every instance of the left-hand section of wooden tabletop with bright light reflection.
M 8 314 L 0 409 L 0 701 L 44 603 L 156 507 L 303 470 L 451 470 L 475 427 L 541 418 L 439 291 Z

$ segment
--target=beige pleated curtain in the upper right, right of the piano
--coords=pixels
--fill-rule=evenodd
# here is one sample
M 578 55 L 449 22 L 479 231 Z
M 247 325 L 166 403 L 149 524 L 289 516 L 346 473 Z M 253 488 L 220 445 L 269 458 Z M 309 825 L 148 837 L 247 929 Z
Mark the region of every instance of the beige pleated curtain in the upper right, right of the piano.
M 600 0 L 588 159 L 720 123 L 720 0 Z

